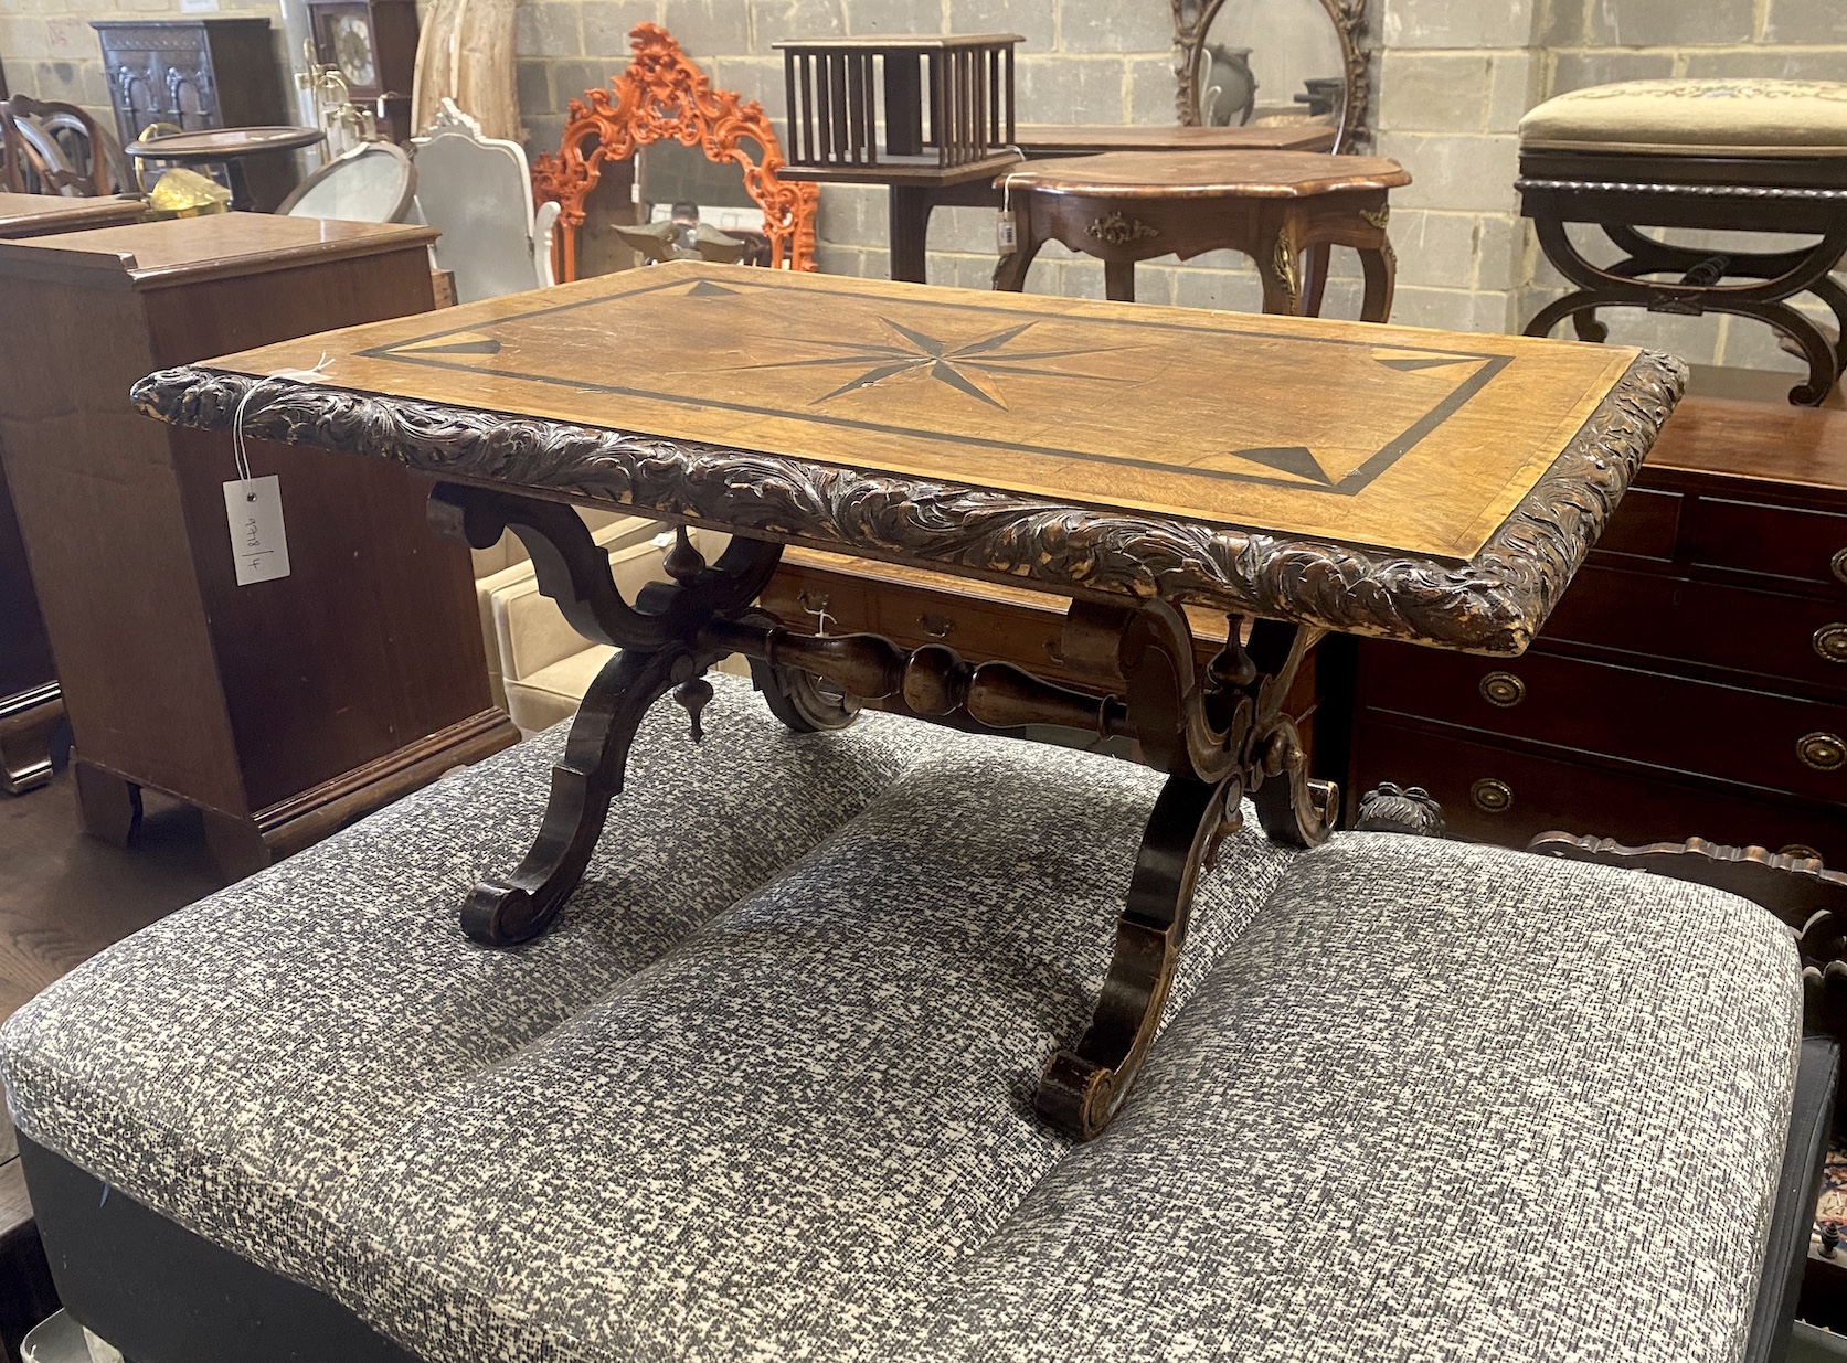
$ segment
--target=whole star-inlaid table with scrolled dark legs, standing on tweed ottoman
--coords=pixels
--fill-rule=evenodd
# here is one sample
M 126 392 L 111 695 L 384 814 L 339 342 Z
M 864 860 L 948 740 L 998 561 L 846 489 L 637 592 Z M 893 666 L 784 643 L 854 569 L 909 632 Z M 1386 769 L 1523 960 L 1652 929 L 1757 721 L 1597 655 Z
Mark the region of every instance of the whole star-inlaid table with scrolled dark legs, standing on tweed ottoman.
M 619 375 L 585 338 L 648 336 Z M 314 382 L 264 379 L 327 366 Z M 475 888 L 464 929 L 541 935 L 622 790 L 641 715 L 693 717 L 707 667 L 752 661 L 792 728 L 848 698 L 1007 730 L 1132 739 L 1169 776 L 1084 1038 L 1040 1112 L 1075 1136 L 1141 1066 L 1193 877 L 1252 796 L 1265 831 L 1328 833 L 1284 696 L 1326 632 L 1518 654 L 1596 541 L 1683 386 L 1677 360 L 1520 336 L 663 264 L 150 375 L 142 412 L 429 475 L 438 525 L 513 528 L 539 585 L 621 645 L 573 724 L 525 862 Z M 707 565 L 626 602 L 563 502 L 731 530 Z M 754 606 L 783 545 L 1071 598 L 1053 683 L 875 633 L 811 637 Z M 1184 608 L 1254 619 L 1206 667 Z M 829 691 L 824 691 L 820 682 Z M 645 792 L 637 792 L 646 798 Z M 927 1056 L 918 1056 L 927 1064 Z

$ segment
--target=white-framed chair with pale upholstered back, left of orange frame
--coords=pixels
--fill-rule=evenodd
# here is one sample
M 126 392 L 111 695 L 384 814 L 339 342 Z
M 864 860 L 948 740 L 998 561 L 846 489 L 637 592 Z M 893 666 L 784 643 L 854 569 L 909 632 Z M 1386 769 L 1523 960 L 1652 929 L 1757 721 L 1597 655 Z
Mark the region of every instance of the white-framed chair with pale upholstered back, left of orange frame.
M 417 214 L 441 229 L 430 255 L 456 277 L 456 303 L 547 288 L 558 205 L 532 207 L 532 172 L 519 142 L 482 137 L 480 124 L 443 98 L 436 122 L 412 139 Z

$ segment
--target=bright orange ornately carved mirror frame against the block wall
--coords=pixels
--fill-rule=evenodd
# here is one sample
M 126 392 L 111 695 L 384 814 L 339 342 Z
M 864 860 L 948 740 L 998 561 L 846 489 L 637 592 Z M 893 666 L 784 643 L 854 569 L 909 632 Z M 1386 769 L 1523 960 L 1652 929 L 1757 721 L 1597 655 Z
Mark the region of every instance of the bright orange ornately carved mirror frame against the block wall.
M 715 90 L 706 72 L 680 50 L 658 24 L 635 24 L 628 35 L 634 61 L 611 76 L 611 90 L 584 90 L 571 102 L 571 120 L 558 155 L 532 164 L 532 190 L 541 203 L 556 201 L 558 279 L 576 279 L 578 229 L 584 199 L 602 175 L 604 161 L 626 161 L 637 146 L 678 140 L 696 146 L 709 161 L 735 161 L 744 168 L 744 190 L 763 207 L 763 235 L 770 238 L 770 266 L 815 268 L 815 214 L 820 188 L 778 179 L 787 164 L 763 105 Z M 759 163 L 742 142 L 763 150 Z

